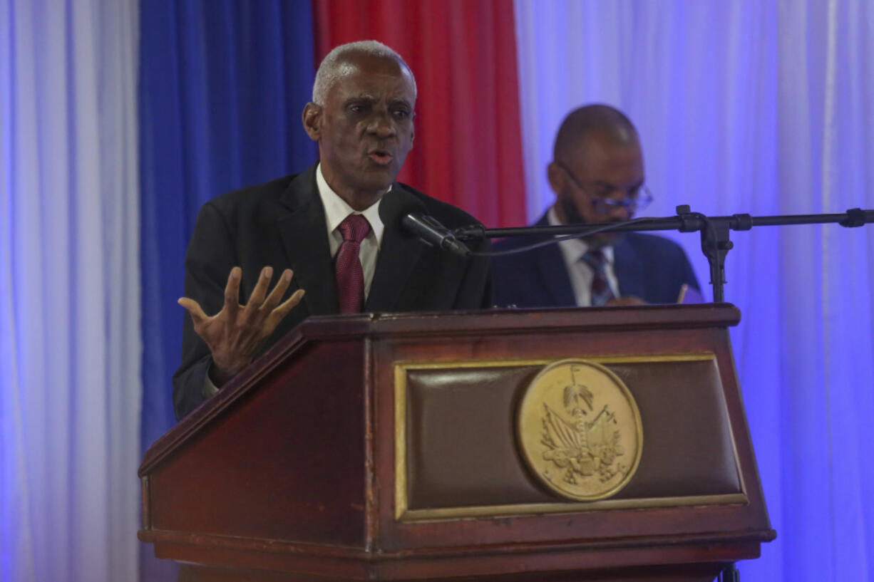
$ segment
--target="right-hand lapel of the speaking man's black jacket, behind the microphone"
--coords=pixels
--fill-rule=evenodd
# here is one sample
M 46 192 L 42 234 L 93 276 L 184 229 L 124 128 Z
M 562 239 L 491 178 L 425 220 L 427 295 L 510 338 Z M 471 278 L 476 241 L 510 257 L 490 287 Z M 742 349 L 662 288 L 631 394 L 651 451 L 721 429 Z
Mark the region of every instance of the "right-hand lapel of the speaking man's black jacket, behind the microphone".
M 409 192 L 395 188 L 385 197 L 396 197 L 399 208 L 420 204 Z M 385 201 L 384 201 L 385 202 Z M 392 222 L 397 222 L 392 220 Z M 397 224 L 386 224 L 379 246 L 376 272 L 373 274 L 371 292 L 364 303 L 364 311 L 389 311 L 397 303 L 406 288 L 406 281 L 413 273 L 425 245 L 400 232 Z

